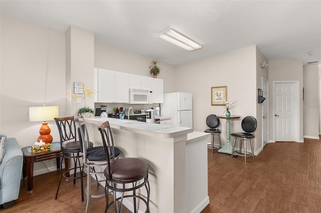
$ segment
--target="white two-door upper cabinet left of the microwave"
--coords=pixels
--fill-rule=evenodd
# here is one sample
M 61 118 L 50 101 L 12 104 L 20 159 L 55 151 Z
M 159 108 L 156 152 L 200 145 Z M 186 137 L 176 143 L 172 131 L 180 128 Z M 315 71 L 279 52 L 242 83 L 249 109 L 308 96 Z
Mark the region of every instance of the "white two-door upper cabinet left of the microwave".
M 96 71 L 96 70 L 95 70 Z M 97 102 L 128 103 L 129 74 L 107 69 L 97 69 Z

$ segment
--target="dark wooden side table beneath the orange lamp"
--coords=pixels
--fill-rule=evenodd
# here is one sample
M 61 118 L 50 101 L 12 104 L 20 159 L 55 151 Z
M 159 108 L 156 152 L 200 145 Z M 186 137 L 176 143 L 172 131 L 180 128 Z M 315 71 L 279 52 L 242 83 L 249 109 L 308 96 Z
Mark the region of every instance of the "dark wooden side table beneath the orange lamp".
M 34 180 L 34 163 L 40 162 L 48 159 L 57 159 L 57 169 L 60 168 L 60 157 L 62 156 L 62 151 L 60 148 L 60 142 L 52 142 L 51 150 L 43 151 L 38 153 L 32 153 L 31 146 L 26 146 L 21 149 L 24 153 L 24 166 L 23 166 L 23 176 L 24 179 L 27 177 L 28 184 L 28 194 L 33 192 L 33 180 Z M 68 165 L 68 163 L 66 164 Z

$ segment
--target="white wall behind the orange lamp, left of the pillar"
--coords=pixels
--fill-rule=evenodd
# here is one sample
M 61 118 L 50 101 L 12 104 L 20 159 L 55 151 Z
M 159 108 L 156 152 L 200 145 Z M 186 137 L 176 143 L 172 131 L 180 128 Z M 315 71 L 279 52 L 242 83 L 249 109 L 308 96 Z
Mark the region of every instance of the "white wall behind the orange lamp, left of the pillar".
M 37 141 L 41 122 L 29 121 L 29 107 L 66 109 L 65 33 L 1 13 L 0 132 L 16 137 L 20 147 Z M 54 141 L 59 134 L 48 121 Z M 45 162 L 55 165 L 55 159 Z M 35 170 L 47 169 L 42 163 Z

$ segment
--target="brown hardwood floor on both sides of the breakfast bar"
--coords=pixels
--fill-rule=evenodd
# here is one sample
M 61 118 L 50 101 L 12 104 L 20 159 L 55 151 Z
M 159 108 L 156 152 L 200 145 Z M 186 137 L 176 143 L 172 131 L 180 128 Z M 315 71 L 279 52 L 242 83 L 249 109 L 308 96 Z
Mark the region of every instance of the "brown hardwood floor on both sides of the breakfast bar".
M 243 157 L 209 150 L 208 168 L 210 204 L 204 213 L 321 212 L 321 140 L 269 143 L 246 163 Z M 75 185 L 63 181 L 54 199 L 59 178 L 60 171 L 35 176 L 33 194 L 27 194 L 22 180 L 15 206 L 1 212 L 84 212 L 79 180 Z M 104 197 L 92 198 L 89 212 L 104 207 Z

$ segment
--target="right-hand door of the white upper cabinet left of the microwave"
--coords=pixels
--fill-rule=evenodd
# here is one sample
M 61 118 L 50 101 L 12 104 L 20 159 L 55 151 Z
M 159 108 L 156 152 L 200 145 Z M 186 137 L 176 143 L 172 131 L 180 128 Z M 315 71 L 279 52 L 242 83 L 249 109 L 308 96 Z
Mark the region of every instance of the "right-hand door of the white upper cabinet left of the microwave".
M 115 71 L 115 102 L 129 102 L 129 73 Z

